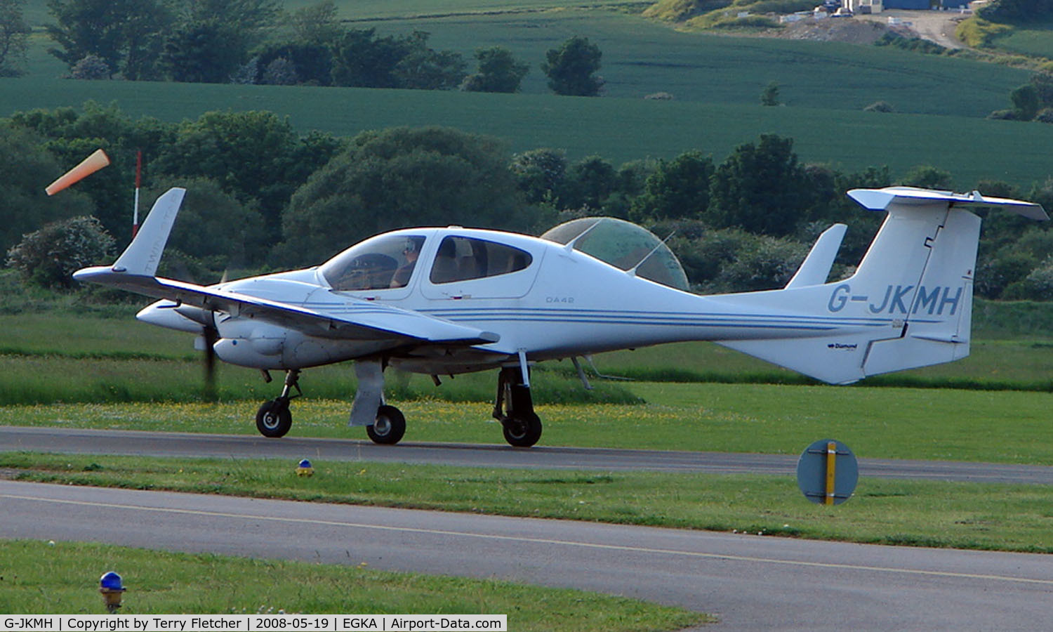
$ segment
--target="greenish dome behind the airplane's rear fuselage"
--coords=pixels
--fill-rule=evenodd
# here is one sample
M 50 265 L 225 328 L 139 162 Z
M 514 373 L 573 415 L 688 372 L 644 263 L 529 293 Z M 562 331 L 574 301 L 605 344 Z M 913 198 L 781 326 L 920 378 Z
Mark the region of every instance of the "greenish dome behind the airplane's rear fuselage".
M 636 270 L 637 276 L 684 292 L 690 290 L 688 275 L 673 251 L 654 233 L 632 222 L 614 217 L 582 217 L 550 229 L 541 238 L 569 243 L 587 231 L 574 242 L 574 250 L 621 270 L 631 270 L 643 261 Z

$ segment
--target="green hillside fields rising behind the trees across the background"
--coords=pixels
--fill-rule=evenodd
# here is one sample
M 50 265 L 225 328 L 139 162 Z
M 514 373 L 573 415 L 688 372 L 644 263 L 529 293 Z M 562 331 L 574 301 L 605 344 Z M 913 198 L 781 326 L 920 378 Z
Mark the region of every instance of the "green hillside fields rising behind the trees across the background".
M 508 46 L 531 64 L 519 95 L 75 82 L 57 78 L 64 67 L 46 54 L 51 42 L 38 33 L 31 74 L 0 79 L 0 116 L 87 99 L 170 121 L 212 110 L 270 110 L 290 116 L 302 132 L 350 136 L 391 125 L 453 125 L 504 138 L 514 151 L 554 146 L 571 158 L 598 154 L 615 163 L 693 149 L 721 160 L 736 145 L 776 133 L 796 139 L 806 161 L 845 170 L 888 164 L 894 174 L 931 163 L 954 174 L 961 189 L 980 178 L 1027 185 L 1053 174 L 1044 159 L 1053 126 L 981 118 L 1009 105 L 1009 92 L 1027 81 L 1024 71 L 891 47 L 679 33 L 629 11 L 642 11 L 640 3 L 559 4 L 338 2 L 341 17 L 354 20 L 350 25 L 381 35 L 424 29 L 435 47 L 466 57 L 477 46 Z M 34 24 L 49 20 L 44 0 L 27 2 L 26 14 Z M 544 85 L 538 68 L 544 52 L 573 35 L 588 36 L 603 51 L 602 98 L 556 97 Z M 773 80 L 784 107 L 758 104 Z M 676 100 L 642 99 L 659 91 Z M 861 112 L 878 100 L 901 114 Z

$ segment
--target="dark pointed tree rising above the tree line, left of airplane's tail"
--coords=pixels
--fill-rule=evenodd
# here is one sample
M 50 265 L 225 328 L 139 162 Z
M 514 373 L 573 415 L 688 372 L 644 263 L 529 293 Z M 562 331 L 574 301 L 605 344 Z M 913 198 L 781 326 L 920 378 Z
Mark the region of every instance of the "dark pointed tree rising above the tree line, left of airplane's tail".
M 739 145 L 716 169 L 703 219 L 715 228 L 789 235 L 810 219 L 814 200 L 793 139 L 761 135 L 757 144 Z

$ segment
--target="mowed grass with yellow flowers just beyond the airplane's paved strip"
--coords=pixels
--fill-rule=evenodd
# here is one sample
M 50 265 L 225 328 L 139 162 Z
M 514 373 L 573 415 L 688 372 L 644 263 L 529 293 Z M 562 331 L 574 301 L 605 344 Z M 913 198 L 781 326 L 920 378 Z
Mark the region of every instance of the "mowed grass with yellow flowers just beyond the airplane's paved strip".
M 949 389 L 638 383 L 648 404 L 541 404 L 541 446 L 799 454 L 817 439 L 860 458 L 1053 466 L 1053 395 Z M 502 443 L 489 402 L 390 399 L 403 441 Z M 7 406 L 0 424 L 255 435 L 256 401 Z M 367 440 L 350 398 L 297 399 L 291 437 Z

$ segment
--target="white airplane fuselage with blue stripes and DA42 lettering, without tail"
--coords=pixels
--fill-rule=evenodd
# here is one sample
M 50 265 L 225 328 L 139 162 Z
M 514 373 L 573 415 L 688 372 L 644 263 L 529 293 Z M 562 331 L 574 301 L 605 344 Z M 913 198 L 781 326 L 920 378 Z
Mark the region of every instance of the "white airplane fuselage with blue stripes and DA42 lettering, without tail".
M 421 241 L 412 273 L 396 288 L 389 287 L 388 277 L 382 276 L 379 283 L 356 281 L 350 289 L 340 289 L 341 281 L 334 283 L 334 261 L 350 256 L 345 254 L 322 266 L 251 277 L 216 288 L 337 317 L 361 315 L 371 303 L 395 307 L 494 332 L 499 340 L 469 348 L 415 351 L 397 336 L 333 339 L 309 335 L 302 328 L 283 328 L 238 314 L 216 314 L 220 337 L 214 347 L 217 355 L 234 364 L 269 370 L 304 369 L 384 355 L 403 370 L 453 374 L 508 364 L 520 351 L 532 361 L 540 361 L 683 340 L 812 337 L 831 330 L 849 334 L 890 328 L 894 320 L 892 314 L 860 314 L 852 309 L 831 311 L 826 317 L 815 316 L 814 312 L 809 315 L 807 309 L 799 313 L 793 310 L 792 300 L 789 309 L 784 304 L 773 312 L 769 304 L 771 292 L 702 297 L 644 279 L 558 243 L 493 231 L 396 231 L 345 253 L 354 255 L 352 251 L 364 245 L 365 255 L 359 254 L 358 259 L 367 258 L 375 254 L 370 252 L 370 241 L 381 238 Z M 493 274 L 480 275 L 478 270 L 462 270 L 443 277 L 439 271 L 442 253 L 438 249 L 446 238 L 496 243 L 523 256 L 519 264 L 510 264 L 514 269 L 511 272 L 497 269 L 491 271 Z M 529 262 L 523 265 L 522 261 Z M 371 287 L 356 289 L 356 283 Z M 815 303 L 810 292 L 826 297 L 831 290 L 817 287 L 795 291 L 793 294 L 803 301 L 802 308 Z M 159 301 L 143 310 L 139 318 L 172 329 L 200 331 L 199 321 L 185 316 L 194 316 L 191 311 L 197 308 L 170 308 L 171 302 Z

